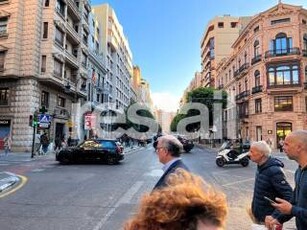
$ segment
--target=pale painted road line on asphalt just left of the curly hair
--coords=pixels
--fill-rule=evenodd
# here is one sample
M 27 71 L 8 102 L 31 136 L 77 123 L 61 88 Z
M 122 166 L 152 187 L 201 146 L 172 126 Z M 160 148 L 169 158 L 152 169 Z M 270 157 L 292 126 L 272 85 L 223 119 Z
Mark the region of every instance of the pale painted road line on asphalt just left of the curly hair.
M 103 225 L 107 222 L 109 217 L 115 212 L 115 210 L 121 205 L 121 204 L 128 204 L 130 203 L 133 196 L 140 190 L 142 185 L 144 184 L 144 181 L 137 181 L 135 182 L 130 189 L 122 196 L 121 199 L 119 199 L 114 207 L 112 207 L 106 215 L 96 224 L 96 226 L 93 228 L 93 230 L 100 230 L 102 229 Z

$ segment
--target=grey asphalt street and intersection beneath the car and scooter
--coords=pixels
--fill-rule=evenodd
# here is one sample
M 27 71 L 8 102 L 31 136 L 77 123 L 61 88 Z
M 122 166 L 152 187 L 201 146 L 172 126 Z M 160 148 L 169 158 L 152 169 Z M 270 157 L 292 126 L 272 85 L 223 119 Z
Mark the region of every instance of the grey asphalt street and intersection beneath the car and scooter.
M 283 153 L 276 156 L 286 164 L 285 171 L 293 183 L 296 163 Z M 182 157 L 191 171 L 227 194 L 227 229 L 251 229 L 246 210 L 253 191 L 255 164 L 218 168 L 214 150 L 198 147 Z M 23 187 L 0 199 L 0 228 L 121 229 L 140 197 L 150 192 L 161 176 L 161 166 L 151 145 L 130 151 L 119 165 L 59 165 L 52 155 L 21 162 L 0 158 L 0 171 L 28 179 Z M 293 229 L 293 221 L 285 227 Z

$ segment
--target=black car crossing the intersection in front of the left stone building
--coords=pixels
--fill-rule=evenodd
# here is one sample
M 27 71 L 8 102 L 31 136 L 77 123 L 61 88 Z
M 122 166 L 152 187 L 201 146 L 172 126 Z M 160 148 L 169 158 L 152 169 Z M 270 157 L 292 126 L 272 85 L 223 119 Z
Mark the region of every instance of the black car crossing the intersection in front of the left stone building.
M 67 147 L 56 153 L 56 160 L 67 164 L 84 160 L 100 160 L 116 164 L 124 159 L 123 148 L 116 140 L 90 139 L 75 147 Z

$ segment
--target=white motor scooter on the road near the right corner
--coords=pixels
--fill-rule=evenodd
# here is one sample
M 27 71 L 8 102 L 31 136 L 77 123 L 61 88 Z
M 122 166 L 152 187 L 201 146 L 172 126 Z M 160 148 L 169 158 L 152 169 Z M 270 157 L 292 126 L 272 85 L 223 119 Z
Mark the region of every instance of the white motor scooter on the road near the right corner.
M 242 145 L 243 146 L 243 145 Z M 236 149 L 231 141 L 223 143 L 216 156 L 216 165 L 223 167 L 226 164 L 241 164 L 243 167 L 249 164 L 249 146 Z

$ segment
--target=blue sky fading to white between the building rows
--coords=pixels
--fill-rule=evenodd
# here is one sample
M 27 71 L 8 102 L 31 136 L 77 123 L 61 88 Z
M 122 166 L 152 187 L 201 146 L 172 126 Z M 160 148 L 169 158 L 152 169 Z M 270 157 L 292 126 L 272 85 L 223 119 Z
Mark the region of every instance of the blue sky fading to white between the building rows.
M 91 0 L 108 3 L 128 38 L 133 65 L 150 84 L 154 104 L 176 111 L 195 72 L 201 71 L 200 42 L 215 16 L 254 16 L 278 0 Z M 282 0 L 307 8 L 306 0 Z

